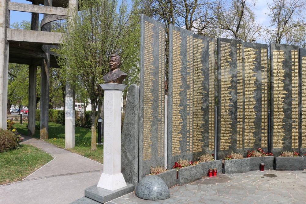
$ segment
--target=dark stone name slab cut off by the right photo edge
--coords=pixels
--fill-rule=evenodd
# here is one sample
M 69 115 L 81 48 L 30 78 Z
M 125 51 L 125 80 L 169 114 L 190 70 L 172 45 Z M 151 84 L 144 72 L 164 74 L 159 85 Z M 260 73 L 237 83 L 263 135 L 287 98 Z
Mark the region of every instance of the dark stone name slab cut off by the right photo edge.
M 306 153 L 306 48 L 300 48 L 300 154 Z

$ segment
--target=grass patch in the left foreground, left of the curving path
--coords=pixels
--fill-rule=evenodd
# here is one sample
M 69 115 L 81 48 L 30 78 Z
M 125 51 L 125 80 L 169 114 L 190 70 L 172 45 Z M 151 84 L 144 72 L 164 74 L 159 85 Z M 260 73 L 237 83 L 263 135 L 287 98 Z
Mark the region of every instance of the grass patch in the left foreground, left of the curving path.
M 0 153 L 0 185 L 22 180 L 51 161 L 50 154 L 32 145 Z

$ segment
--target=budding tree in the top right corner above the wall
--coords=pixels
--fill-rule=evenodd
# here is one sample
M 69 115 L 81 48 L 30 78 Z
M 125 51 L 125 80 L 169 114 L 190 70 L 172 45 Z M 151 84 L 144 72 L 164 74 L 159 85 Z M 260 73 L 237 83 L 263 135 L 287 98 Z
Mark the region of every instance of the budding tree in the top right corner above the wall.
M 271 17 L 270 26 L 266 29 L 266 40 L 273 43 L 296 41 L 294 35 L 305 26 L 305 0 L 273 0 L 268 4 Z M 302 31 L 302 30 L 301 30 Z M 302 31 L 304 32 L 304 31 Z

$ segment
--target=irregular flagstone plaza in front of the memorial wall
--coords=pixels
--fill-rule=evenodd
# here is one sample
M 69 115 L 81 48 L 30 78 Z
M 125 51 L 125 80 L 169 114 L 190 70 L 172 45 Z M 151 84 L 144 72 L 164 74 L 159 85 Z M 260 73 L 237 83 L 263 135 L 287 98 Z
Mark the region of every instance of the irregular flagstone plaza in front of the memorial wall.
M 170 198 L 147 201 L 135 192 L 107 204 L 123 203 L 305 203 L 306 171 L 251 171 L 204 177 L 184 186 L 170 188 Z

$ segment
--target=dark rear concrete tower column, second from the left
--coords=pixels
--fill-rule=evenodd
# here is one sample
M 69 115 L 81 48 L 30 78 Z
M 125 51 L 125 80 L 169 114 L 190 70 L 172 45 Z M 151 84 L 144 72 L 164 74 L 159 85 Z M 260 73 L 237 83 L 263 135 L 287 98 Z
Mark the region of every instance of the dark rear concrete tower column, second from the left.
M 38 1 L 32 4 L 39 5 Z M 38 31 L 39 13 L 32 13 L 31 30 Z M 36 72 L 37 66 L 29 66 L 29 117 L 28 117 L 28 135 L 35 133 L 35 113 L 36 113 Z

